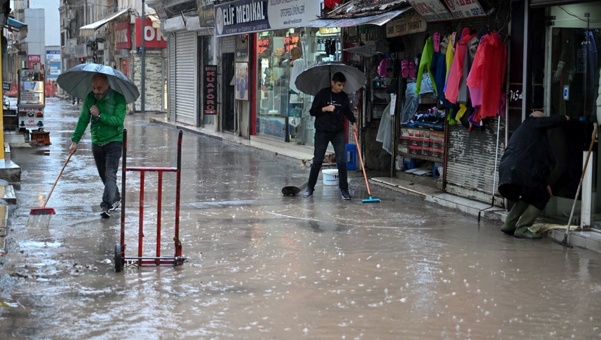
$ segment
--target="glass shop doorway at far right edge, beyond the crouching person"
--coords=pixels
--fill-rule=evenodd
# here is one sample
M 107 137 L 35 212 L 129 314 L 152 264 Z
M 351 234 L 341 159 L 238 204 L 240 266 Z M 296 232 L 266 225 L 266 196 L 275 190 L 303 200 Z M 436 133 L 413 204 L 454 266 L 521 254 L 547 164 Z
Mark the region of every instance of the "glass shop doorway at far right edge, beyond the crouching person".
M 563 171 L 563 176 L 554 188 L 556 197 L 549 201 L 546 212 L 567 222 L 597 116 L 601 5 L 555 6 L 548 8 L 548 14 L 554 19 L 547 29 L 545 109 L 551 115 L 570 116 L 570 124 L 549 134 L 557 161 L 554 173 Z M 600 151 L 596 143 L 576 203 L 576 218 L 572 221 L 593 228 L 601 228 Z

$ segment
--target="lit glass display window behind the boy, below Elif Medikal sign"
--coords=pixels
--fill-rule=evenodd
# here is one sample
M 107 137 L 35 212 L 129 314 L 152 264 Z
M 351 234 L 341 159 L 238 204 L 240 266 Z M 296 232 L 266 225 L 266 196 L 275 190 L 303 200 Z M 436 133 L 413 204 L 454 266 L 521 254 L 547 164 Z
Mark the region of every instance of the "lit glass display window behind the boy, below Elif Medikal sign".
M 340 28 L 291 28 L 257 34 L 257 88 L 254 89 L 259 136 L 312 145 L 313 97 L 299 91 L 296 77 L 318 62 L 340 61 Z

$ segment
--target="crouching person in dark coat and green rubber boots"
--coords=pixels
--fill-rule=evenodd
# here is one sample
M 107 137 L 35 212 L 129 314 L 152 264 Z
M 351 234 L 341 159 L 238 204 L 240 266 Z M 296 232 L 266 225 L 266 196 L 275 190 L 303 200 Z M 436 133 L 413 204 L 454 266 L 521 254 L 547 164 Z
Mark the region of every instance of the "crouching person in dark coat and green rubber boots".
M 499 166 L 499 192 L 516 202 L 501 228 L 506 234 L 540 239 L 542 234 L 528 230 L 552 197 L 547 182 L 555 167 L 555 158 L 547 130 L 569 121 L 568 116 L 546 117 L 532 112 L 511 136 Z

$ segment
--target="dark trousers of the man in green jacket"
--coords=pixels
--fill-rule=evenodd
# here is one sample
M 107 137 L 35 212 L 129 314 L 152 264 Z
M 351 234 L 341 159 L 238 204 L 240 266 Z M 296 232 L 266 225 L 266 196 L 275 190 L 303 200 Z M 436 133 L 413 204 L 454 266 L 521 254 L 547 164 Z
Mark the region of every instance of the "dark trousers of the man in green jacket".
M 123 143 L 121 142 L 111 142 L 103 145 L 92 143 L 92 154 L 94 155 L 94 161 L 96 161 L 96 168 L 102 183 L 105 185 L 100 206 L 111 206 L 116 201 L 121 200 L 117 188 L 117 170 L 119 169 L 122 149 Z

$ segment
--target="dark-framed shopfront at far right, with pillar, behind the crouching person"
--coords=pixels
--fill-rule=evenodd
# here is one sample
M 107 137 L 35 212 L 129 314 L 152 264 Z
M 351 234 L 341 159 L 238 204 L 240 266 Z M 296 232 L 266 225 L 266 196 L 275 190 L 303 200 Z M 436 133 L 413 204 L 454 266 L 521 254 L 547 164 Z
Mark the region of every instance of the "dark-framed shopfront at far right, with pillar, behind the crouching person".
M 523 23 L 523 55 L 526 56 L 523 83 L 531 84 L 533 89 L 523 95 L 523 106 L 526 112 L 542 108 L 546 115 L 572 118 L 570 124 L 555 129 L 549 137 L 557 166 L 550 179 L 555 197 L 545 209 L 549 217 L 567 222 L 593 137 L 593 122 L 601 104 L 601 4 L 537 0 L 529 2 L 528 6 L 522 3 L 522 8 L 527 11 L 525 17 L 528 18 Z M 545 25 L 536 25 L 537 22 Z M 529 46 L 538 40 L 545 44 L 540 47 L 535 44 L 529 50 Z M 538 48 L 536 53 L 534 48 Z M 516 125 L 514 123 L 513 127 Z M 601 228 L 599 151 L 599 143 L 595 143 L 573 221 L 573 224 L 596 229 Z

